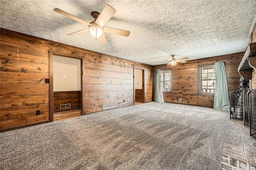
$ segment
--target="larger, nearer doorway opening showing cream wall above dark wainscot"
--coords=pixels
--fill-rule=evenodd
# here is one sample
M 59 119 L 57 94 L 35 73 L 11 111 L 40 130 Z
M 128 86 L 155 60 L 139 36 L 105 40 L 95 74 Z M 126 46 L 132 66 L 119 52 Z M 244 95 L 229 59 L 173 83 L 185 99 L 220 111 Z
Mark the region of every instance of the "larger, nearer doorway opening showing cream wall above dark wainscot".
M 82 115 L 82 59 L 52 56 L 52 105 L 51 121 Z M 51 95 L 50 95 L 51 96 Z M 50 107 L 52 107 L 50 104 Z M 51 115 L 52 114 L 52 115 Z

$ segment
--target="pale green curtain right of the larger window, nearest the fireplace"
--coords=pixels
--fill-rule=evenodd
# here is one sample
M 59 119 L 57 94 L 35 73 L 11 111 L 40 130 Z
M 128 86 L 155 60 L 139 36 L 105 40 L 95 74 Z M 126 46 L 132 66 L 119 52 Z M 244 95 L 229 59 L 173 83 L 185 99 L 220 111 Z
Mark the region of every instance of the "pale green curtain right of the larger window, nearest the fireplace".
M 214 94 L 213 109 L 229 111 L 228 83 L 224 62 L 215 63 L 216 89 Z

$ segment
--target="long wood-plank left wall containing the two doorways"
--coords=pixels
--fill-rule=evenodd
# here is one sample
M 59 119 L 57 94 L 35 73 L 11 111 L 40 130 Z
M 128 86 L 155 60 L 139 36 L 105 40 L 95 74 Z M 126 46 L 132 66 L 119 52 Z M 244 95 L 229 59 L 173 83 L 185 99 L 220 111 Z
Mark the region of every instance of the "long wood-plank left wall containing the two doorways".
M 133 105 L 134 67 L 145 69 L 145 100 L 152 101 L 153 66 L 2 28 L 0 32 L 1 130 L 50 121 L 50 87 L 45 83 L 51 77 L 49 51 L 82 59 L 83 114 L 101 111 L 104 104 Z

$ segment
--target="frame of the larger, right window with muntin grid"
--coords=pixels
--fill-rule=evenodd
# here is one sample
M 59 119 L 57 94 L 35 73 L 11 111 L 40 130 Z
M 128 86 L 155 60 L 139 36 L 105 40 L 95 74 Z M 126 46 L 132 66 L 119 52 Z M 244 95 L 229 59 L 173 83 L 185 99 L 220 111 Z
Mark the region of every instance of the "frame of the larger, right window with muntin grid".
M 202 78 L 202 69 L 203 68 L 207 68 L 207 67 L 213 67 L 214 68 L 214 77 L 213 79 L 203 79 Z M 210 72 L 211 73 L 211 72 Z M 207 73 L 208 74 L 208 69 L 207 69 Z M 213 85 L 213 89 L 208 89 L 208 87 L 204 88 L 206 89 L 206 91 L 203 91 L 203 88 L 202 88 L 202 81 L 204 80 L 214 80 L 214 85 Z M 208 85 L 207 85 L 208 86 Z M 210 85 L 209 85 L 210 87 Z M 214 64 L 208 64 L 208 65 L 198 65 L 198 94 L 199 95 L 208 95 L 208 96 L 214 96 L 214 93 L 215 93 L 215 90 L 216 90 L 216 71 L 215 71 L 215 65 Z M 212 92 L 207 92 L 207 91 L 212 91 Z

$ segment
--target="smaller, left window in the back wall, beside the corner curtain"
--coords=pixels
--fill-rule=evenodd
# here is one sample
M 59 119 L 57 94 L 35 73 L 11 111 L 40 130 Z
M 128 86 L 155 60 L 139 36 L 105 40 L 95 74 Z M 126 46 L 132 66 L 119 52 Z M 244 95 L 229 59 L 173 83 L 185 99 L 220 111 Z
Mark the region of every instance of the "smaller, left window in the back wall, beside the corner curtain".
M 163 92 L 171 92 L 172 91 L 171 70 L 170 69 L 161 70 L 160 85 L 161 85 L 161 90 Z

